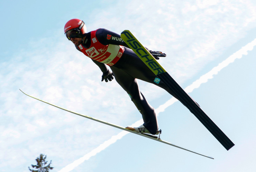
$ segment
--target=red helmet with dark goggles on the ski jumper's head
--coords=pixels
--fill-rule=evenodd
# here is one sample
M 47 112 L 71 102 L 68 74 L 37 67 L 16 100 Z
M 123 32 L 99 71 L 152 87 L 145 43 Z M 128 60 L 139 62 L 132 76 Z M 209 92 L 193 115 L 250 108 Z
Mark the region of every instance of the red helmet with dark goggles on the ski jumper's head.
M 86 26 L 80 19 L 71 19 L 65 24 L 64 33 L 68 40 L 71 37 L 81 37 L 86 33 Z

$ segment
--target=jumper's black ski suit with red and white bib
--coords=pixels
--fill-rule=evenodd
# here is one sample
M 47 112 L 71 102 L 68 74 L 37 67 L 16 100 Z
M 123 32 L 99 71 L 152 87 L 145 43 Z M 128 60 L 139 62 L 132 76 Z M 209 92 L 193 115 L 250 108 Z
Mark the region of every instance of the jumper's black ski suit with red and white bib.
M 155 84 L 175 98 L 176 95 L 161 80 L 158 84 L 154 82 L 156 75 L 128 48 L 119 34 L 98 29 L 86 33 L 85 36 L 83 43 L 76 46 L 76 49 L 90 57 L 103 73 L 108 71 L 106 65 L 110 66 L 117 83 L 128 93 L 141 113 L 143 125 L 154 135 L 158 130 L 155 109 L 140 92 L 137 79 Z

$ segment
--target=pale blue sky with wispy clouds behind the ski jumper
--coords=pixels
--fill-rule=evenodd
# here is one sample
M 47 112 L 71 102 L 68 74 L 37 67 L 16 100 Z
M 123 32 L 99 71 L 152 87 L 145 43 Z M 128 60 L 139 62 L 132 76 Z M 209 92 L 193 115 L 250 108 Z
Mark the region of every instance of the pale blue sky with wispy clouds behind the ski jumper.
M 40 153 L 52 160 L 53 172 L 253 171 L 255 9 L 253 0 L 1 1 L 1 171 L 28 171 Z M 168 104 L 172 96 L 142 81 L 141 92 L 161 111 L 161 138 L 214 160 L 130 133 L 106 146 L 122 131 L 22 94 L 19 88 L 123 127 L 141 119 L 125 91 L 101 82 L 98 67 L 66 39 L 72 18 L 88 31 L 128 29 L 150 50 L 166 53 L 159 63 L 183 88 L 194 88 L 191 97 L 235 146 L 226 151 L 181 103 Z M 192 85 L 196 80 L 202 84 Z

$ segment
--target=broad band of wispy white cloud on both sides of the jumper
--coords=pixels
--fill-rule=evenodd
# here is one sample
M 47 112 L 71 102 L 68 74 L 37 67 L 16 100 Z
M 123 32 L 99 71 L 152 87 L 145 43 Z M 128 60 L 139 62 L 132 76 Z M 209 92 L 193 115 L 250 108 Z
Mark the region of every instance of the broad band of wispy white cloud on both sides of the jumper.
M 99 9 L 89 17 L 85 18 L 84 13 L 81 16 L 88 30 L 106 28 L 120 33 L 129 29 L 145 46 L 165 52 L 168 56 L 159 62 L 182 83 L 255 27 L 254 1 L 206 2 L 118 1 L 108 11 Z M 75 151 L 70 159 L 62 161 L 63 166 L 117 134 L 116 130 L 98 124 L 95 128 L 93 122 L 30 99 L 19 88 L 58 106 L 121 126 L 140 118 L 117 83 L 100 82 L 98 67 L 75 50 L 62 27 L 49 32 L 55 36 L 31 42 L 28 49 L 16 50 L 11 60 L 0 64 L 0 79 L 4 81 L 0 84 L 1 168 L 11 166 L 13 161 L 24 166 L 41 151 L 58 159 Z M 165 93 L 155 86 L 139 84 L 141 89 L 150 87 L 150 92 L 143 92 L 148 100 Z M 104 91 L 106 87 L 109 93 Z

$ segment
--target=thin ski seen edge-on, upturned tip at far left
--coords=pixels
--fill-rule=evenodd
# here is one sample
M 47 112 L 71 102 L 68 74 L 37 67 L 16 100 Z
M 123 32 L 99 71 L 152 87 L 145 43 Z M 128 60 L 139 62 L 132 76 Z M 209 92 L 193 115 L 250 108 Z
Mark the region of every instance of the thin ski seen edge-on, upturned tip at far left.
M 21 91 L 21 89 L 19 89 L 19 90 Z M 21 91 L 21 92 L 22 92 L 22 91 Z M 24 93 L 24 92 L 22 92 L 22 93 Z M 119 128 L 119 129 L 121 129 L 121 130 L 125 130 L 125 131 L 134 133 L 134 134 L 139 135 L 139 136 L 143 136 L 143 137 L 146 137 L 146 138 L 149 138 L 149 139 L 152 139 L 152 140 L 156 140 L 156 141 L 159 141 L 159 142 L 162 142 L 162 143 L 165 143 L 165 144 L 174 146 L 174 147 L 176 147 L 176 148 L 180 148 L 180 149 L 183 149 L 183 150 L 186 150 L 186 151 L 189 151 L 189 152 L 192 152 L 192 153 L 201 155 L 201 156 L 203 156 L 203 157 L 207 157 L 207 158 L 210 158 L 210 159 L 214 159 L 214 158 L 209 157 L 209 156 L 207 156 L 207 155 L 203 155 L 203 154 L 201 154 L 201 153 L 197 153 L 197 152 L 191 151 L 191 150 L 189 150 L 189 149 L 182 148 L 182 147 L 180 147 L 180 146 L 177 146 L 177 145 L 175 145 L 175 144 L 169 143 L 169 142 L 167 142 L 167 141 L 164 141 L 164 140 L 161 140 L 161 139 L 157 139 L 157 138 L 154 137 L 154 136 L 149 136 L 149 135 L 147 135 L 147 134 L 143 134 L 143 133 L 138 133 L 138 132 L 135 132 L 135 131 L 131 131 L 131 130 L 128 130 L 128 129 L 124 128 L 124 127 L 117 126 L 117 125 L 114 125 L 114 124 L 109 123 L 109 122 L 105 122 L 105 121 L 102 121 L 102 120 L 99 120 L 99 119 L 95 119 L 95 118 L 92 118 L 92 117 L 89 117 L 89 116 L 86 116 L 86 115 L 83 115 L 83 114 L 79 114 L 79 113 L 73 112 L 73 111 L 71 111 L 71 110 L 64 109 L 64 108 L 62 108 L 62 107 L 59 107 L 59 106 L 53 105 L 53 104 L 51 104 L 51 103 L 48 103 L 48 102 L 46 102 L 46 101 L 44 101 L 44 100 L 40 100 L 40 99 L 38 99 L 38 98 L 36 98 L 36 97 L 30 96 L 30 95 L 28 95 L 28 94 L 26 94 L 26 93 L 24 93 L 24 94 L 27 95 L 27 96 L 29 96 L 29 97 L 32 97 L 32 98 L 34 98 L 34 99 L 36 99 L 36 100 L 39 100 L 39 101 L 42 101 L 42 102 L 47 103 L 47 104 L 49 104 L 49 105 L 52 105 L 52 106 L 54 106 L 54 107 L 57 107 L 57 108 L 60 108 L 60 109 L 62 109 L 62 110 L 71 112 L 72 114 L 79 115 L 79 116 L 82 116 L 82 117 L 84 117 L 84 118 L 88 118 L 88 119 L 91 119 L 91 120 L 94 120 L 94 121 L 97 121 L 97 122 L 100 122 L 100 123 L 104 123 L 104 124 L 106 124 L 106 125 L 109 125 L 109 126 L 112 126 L 112 127 L 115 127 L 115 128 Z

